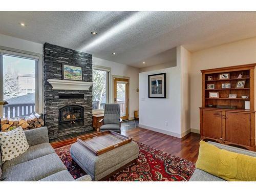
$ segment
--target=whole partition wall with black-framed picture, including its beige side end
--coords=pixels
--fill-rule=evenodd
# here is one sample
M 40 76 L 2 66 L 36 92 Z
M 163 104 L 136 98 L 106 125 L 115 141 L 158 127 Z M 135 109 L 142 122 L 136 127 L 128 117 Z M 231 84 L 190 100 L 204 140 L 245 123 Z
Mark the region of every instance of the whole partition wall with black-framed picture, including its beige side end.
M 176 67 L 140 73 L 140 127 L 179 138 L 190 132 L 189 66 L 190 53 L 179 46 Z M 166 98 L 148 98 L 148 75 L 164 72 Z

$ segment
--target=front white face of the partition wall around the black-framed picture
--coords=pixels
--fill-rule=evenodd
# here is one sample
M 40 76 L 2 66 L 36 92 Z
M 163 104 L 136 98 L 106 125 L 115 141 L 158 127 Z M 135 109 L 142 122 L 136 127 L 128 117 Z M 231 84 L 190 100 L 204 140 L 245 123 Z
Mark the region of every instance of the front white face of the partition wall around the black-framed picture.
M 166 98 L 148 98 L 148 75 L 166 73 Z M 181 137 L 180 68 L 172 67 L 139 74 L 139 126 Z M 165 122 L 168 125 L 165 125 Z

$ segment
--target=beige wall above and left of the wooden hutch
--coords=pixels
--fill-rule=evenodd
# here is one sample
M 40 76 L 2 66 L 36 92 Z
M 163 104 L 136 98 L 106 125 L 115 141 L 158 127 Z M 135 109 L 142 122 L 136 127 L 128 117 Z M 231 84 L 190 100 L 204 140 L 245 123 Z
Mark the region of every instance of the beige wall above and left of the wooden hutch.
M 201 72 L 203 69 L 227 67 L 256 62 L 256 37 L 191 53 L 190 127 L 199 132 L 201 106 Z

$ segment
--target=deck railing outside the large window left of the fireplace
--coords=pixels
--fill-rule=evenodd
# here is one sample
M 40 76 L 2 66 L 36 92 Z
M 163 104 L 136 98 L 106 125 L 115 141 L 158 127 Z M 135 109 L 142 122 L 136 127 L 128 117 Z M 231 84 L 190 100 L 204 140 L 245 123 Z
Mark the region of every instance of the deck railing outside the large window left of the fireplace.
M 3 108 L 3 117 L 19 117 L 30 115 L 35 112 L 35 103 L 7 104 Z

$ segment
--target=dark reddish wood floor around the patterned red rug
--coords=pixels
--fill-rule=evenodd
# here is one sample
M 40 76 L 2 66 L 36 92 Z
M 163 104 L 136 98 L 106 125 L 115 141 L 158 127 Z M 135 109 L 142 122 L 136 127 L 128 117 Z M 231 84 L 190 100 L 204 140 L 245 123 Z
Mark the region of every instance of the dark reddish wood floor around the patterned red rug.
M 133 138 L 133 140 L 148 146 L 157 148 L 166 153 L 196 162 L 199 151 L 200 135 L 189 133 L 182 139 L 157 133 L 154 131 L 135 127 L 133 129 L 122 129 L 122 135 Z M 51 143 L 53 148 L 58 148 L 76 142 L 76 138 Z

